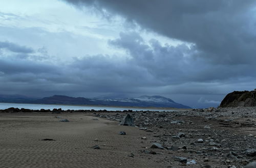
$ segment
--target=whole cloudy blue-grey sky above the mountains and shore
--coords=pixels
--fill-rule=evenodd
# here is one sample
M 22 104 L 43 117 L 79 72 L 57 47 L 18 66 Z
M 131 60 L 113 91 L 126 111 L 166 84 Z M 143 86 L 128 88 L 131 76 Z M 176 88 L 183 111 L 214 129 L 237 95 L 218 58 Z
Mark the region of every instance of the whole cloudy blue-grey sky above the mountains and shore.
M 250 0 L 0 1 L 0 94 L 218 106 L 256 88 L 255 30 Z

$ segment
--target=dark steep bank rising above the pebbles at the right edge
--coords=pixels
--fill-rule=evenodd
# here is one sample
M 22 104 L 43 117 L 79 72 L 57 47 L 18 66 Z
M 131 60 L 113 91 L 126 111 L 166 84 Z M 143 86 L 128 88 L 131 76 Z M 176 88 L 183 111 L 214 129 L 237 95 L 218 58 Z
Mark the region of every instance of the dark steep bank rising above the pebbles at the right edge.
M 256 91 L 234 91 L 226 95 L 220 107 L 256 106 Z

